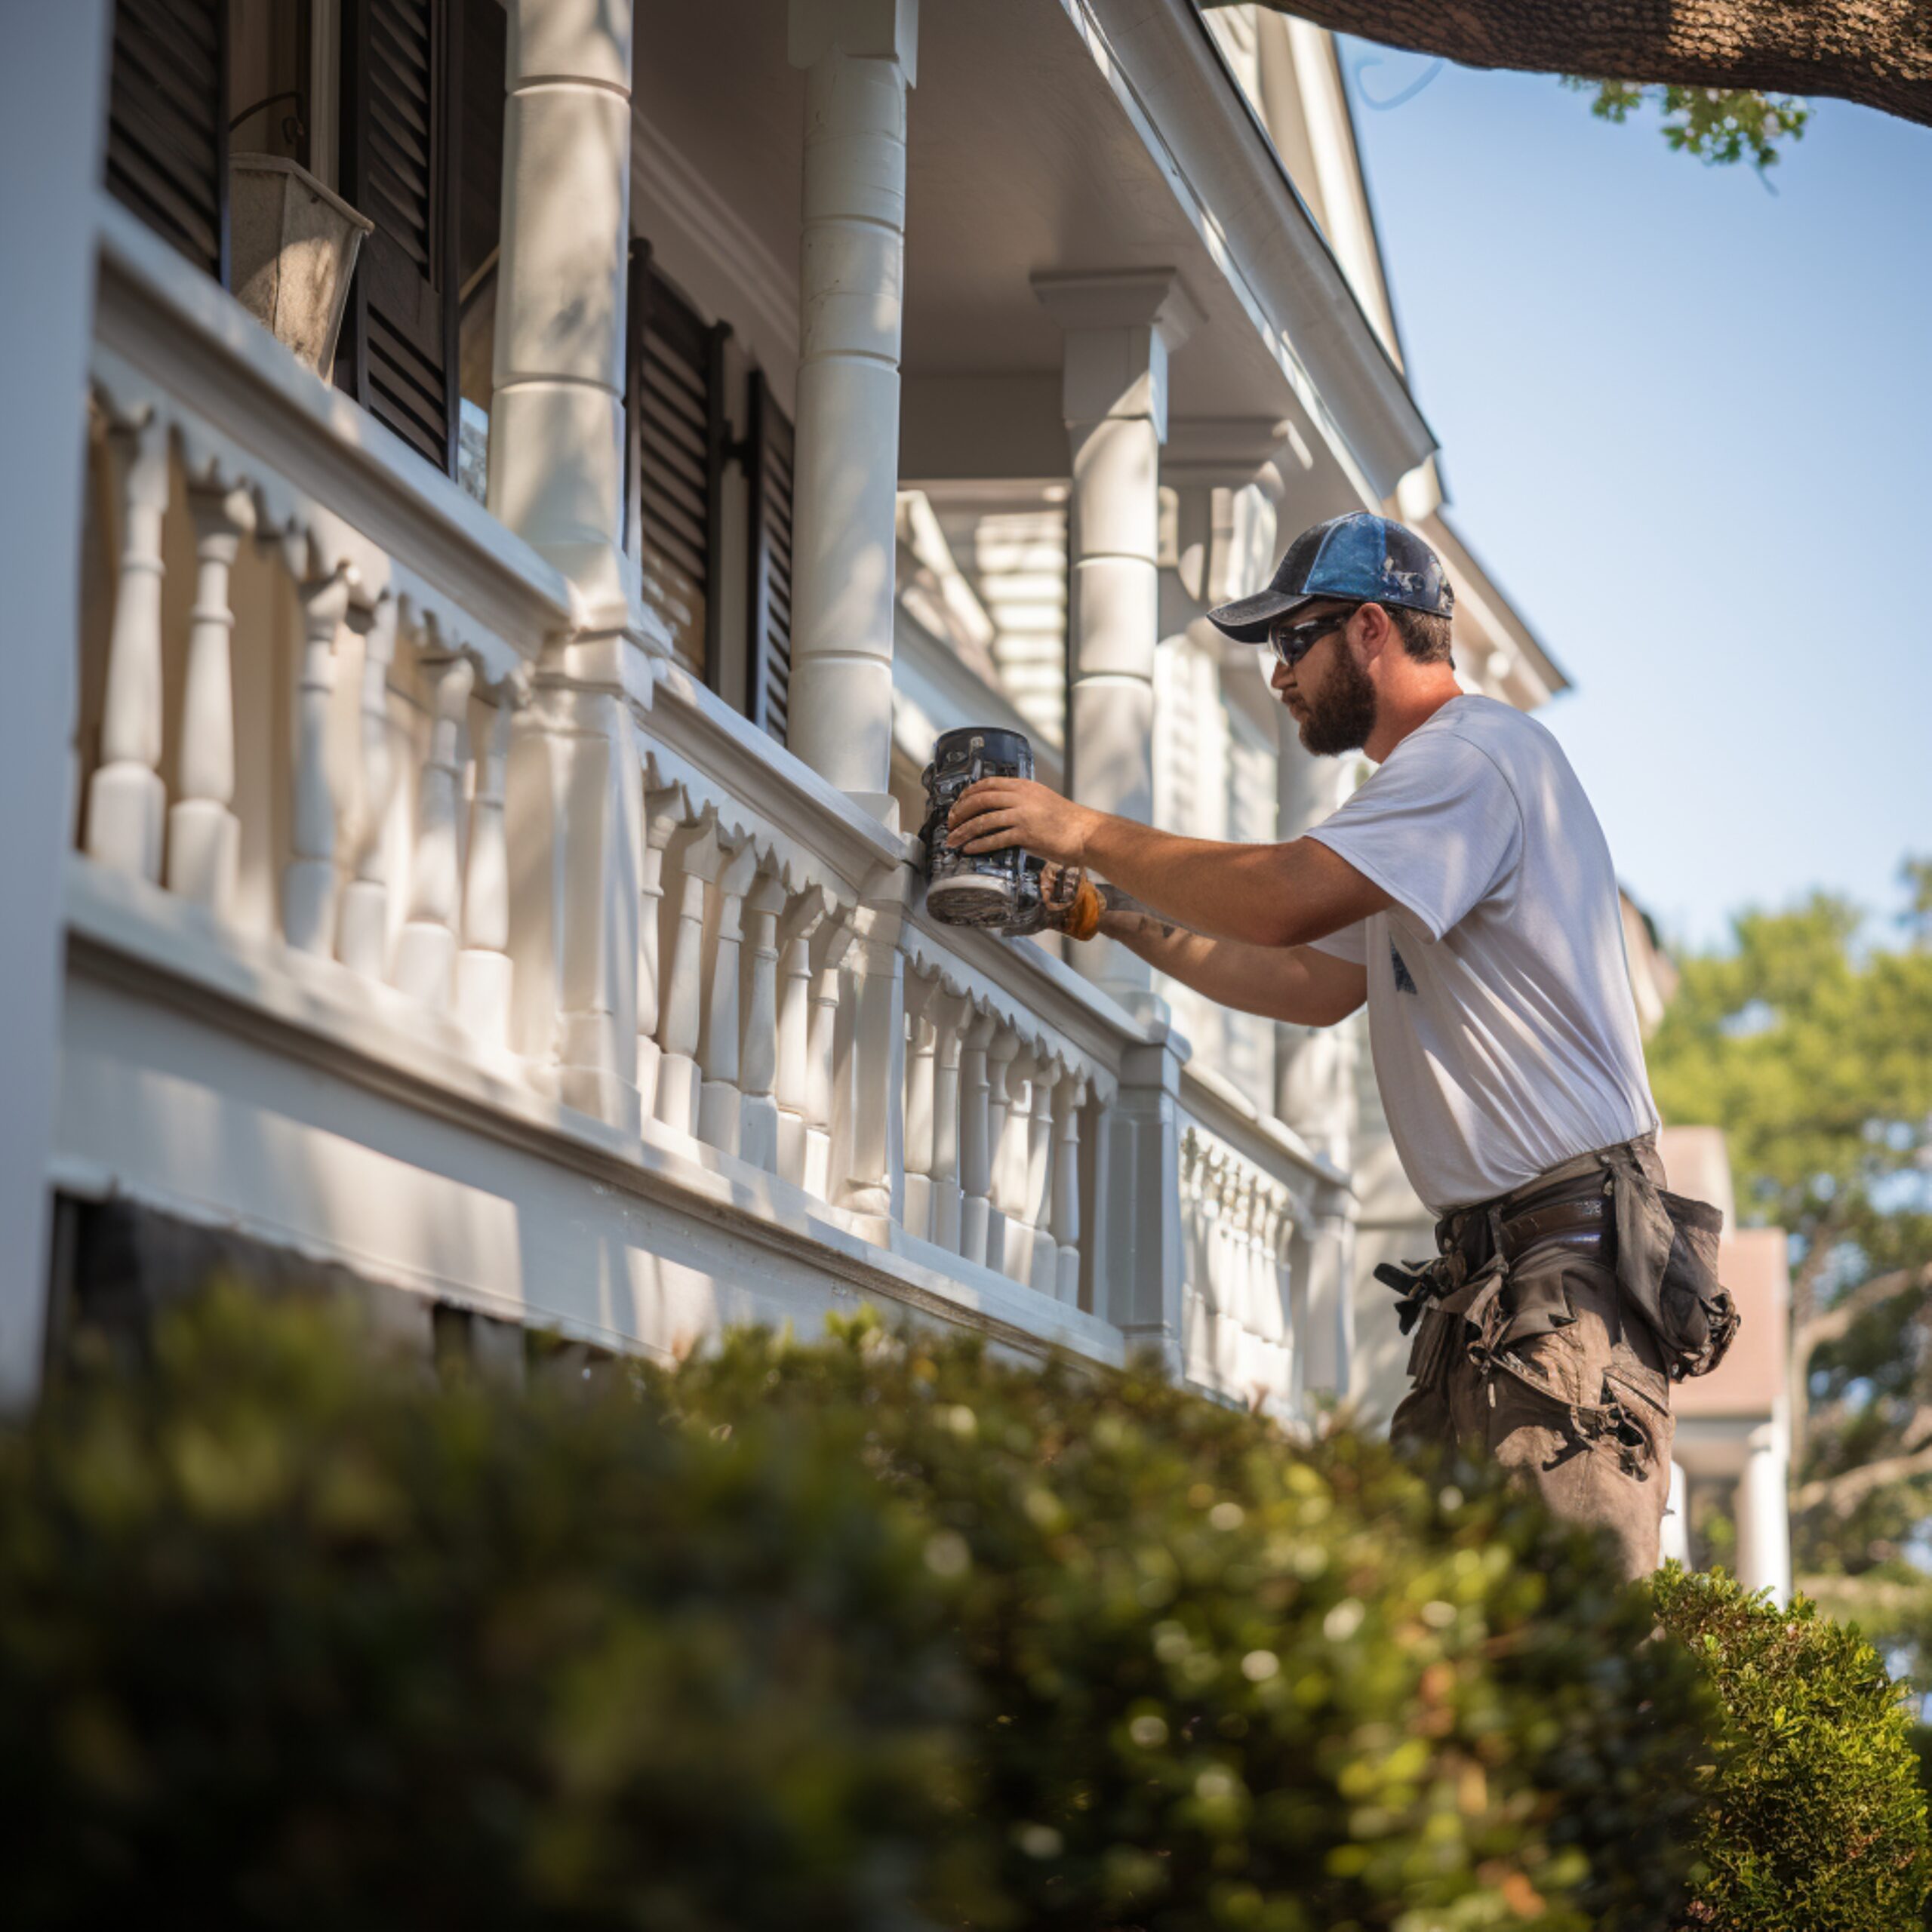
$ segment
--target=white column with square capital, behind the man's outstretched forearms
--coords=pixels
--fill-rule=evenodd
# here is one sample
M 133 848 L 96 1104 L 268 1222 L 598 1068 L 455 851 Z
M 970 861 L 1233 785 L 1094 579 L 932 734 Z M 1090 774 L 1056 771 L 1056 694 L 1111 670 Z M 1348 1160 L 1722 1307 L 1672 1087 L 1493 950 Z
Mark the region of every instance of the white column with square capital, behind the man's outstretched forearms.
M 1066 332 L 1072 794 L 1150 823 L 1167 357 L 1196 311 L 1167 269 L 1037 274 L 1034 290 Z M 1124 947 L 1094 941 L 1074 951 L 1080 970 L 1109 991 L 1128 1003 L 1148 997 L 1151 968 Z

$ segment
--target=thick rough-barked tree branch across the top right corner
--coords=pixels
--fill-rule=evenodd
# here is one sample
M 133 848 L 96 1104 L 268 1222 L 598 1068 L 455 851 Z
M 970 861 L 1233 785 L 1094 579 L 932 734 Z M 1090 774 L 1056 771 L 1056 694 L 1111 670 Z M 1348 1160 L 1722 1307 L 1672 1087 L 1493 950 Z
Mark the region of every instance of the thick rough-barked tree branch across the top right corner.
M 1833 95 L 1932 124 L 1924 0 L 1265 0 L 1466 68 Z

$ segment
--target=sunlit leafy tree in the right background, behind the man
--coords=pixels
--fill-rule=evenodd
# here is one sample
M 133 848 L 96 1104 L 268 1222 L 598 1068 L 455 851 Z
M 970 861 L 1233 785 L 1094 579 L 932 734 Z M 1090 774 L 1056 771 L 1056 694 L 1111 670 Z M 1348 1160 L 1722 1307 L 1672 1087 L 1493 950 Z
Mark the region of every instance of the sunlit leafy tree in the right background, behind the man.
M 1932 1509 L 1928 879 L 1907 864 L 1895 947 L 1822 895 L 1743 914 L 1729 949 L 1681 960 L 1648 1057 L 1665 1119 L 1725 1128 L 1747 1219 L 1793 1235 L 1799 1565 L 1833 1611 L 1932 1658 L 1911 1557 Z

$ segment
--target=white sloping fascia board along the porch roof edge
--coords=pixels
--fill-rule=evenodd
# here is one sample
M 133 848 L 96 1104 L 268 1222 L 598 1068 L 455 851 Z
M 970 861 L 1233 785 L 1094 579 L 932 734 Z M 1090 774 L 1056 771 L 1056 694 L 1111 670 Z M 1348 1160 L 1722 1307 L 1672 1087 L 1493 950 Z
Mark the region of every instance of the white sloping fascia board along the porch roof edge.
M 1435 437 L 1192 0 L 1061 0 L 1318 431 L 1374 498 Z

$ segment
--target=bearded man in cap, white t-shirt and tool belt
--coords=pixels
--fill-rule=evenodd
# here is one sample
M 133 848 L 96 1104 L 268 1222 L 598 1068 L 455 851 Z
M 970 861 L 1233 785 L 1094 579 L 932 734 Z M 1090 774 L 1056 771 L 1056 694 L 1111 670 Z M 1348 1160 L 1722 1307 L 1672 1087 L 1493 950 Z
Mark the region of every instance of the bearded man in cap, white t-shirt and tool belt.
M 1488 1451 L 1638 1577 L 1658 1563 L 1671 1376 L 1710 1368 L 1735 1318 L 1658 1194 L 1596 813 L 1542 724 L 1461 690 L 1451 611 L 1435 553 L 1356 514 L 1209 612 L 1271 647 L 1306 750 L 1379 767 L 1302 838 L 1180 838 L 987 779 L 949 840 L 1105 875 L 1150 910 L 1101 931 L 1227 1007 L 1333 1026 L 1368 1003 L 1389 1130 L 1441 1217 L 1437 1260 L 1399 1271 L 1414 1387 L 1391 1434 Z

